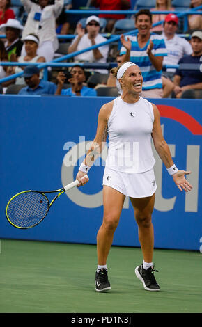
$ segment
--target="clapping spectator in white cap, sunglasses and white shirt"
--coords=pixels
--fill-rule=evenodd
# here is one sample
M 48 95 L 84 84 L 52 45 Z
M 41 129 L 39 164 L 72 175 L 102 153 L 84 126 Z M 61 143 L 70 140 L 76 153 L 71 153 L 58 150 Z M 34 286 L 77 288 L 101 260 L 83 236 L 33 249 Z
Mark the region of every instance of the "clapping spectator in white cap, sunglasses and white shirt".
M 97 16 L 90 16 L 86 19 L 86 31 L 82 28 L 81 24 L 77 24 L 77 36 L 72 41 L 68 48 L 68 53 L 71 54 L 75 51 L 81 51 L 93 45 L 97 45 L 104 41 L 107 41 L 100 31 L 100 19 Z M 109 45 L 95 48 L 93 50 L 84 52 L 74 57 L 75 62 L 88 61 L 90 63 L 106 63 L 109 52 Z M 108 70 L 93 70 L 94 72 L 100 72 L 101 74 L 107 74 Z

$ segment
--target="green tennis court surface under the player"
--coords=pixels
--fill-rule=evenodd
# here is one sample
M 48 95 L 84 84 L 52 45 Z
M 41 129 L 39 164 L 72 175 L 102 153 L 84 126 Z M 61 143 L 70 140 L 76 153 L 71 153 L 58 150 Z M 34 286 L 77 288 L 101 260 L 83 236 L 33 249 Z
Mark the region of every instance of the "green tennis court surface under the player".
M 95 292 L 96 247 L 1 240 L 1 313 L 202 312 L 200 253 L 156 249 L 160 292 L 148 292 L 134 275 L 139 248 L 111 248 L 111 291 Z

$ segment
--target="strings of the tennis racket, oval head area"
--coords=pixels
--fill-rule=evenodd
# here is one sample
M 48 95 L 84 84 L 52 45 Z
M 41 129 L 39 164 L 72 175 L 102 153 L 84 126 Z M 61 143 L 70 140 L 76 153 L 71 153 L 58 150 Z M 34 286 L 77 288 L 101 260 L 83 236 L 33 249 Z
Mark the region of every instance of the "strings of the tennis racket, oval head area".
M 7 216 L 13 225 L 29 228 L 45 217 L 48 208 L 48 200 L 42 193 L 26 191 L 10 200 Z

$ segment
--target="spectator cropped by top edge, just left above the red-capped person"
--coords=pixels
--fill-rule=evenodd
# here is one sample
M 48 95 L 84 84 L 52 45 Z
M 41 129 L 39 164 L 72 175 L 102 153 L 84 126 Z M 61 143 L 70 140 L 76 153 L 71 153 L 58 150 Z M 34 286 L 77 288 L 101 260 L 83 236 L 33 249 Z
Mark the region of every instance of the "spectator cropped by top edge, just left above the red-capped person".
M 174 8 L 171 6 L 171 0 L 156 0 L 155 8 L 151 8 L 151 12 L 153 11 L 173 11 Z M 166 17 L 165 14 L 155 14 L 153 15 L 153 24 L 164 20 Z M 163 24 L 157 25 L 153 27 L 152 32 L 163 31 Z

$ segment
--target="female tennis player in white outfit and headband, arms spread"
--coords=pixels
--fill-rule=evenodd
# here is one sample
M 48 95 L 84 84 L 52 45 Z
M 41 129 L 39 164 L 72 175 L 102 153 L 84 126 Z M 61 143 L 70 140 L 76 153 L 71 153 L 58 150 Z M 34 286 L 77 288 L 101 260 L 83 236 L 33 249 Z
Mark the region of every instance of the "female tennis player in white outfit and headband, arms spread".
M 153 267 L 154 232 L 151 218 L 157 185 L 151 138 L 180 191 L 191 191 L 192 185 L 185 179 L 185 175 L 191 172 L 178 170 L 173 163 L 169 146 L 162 136 L 157 106 L 140 96 L 143 77 L 139 67 L 126 62 L 111 72 L 121 85 L 122 95 L 100 109 L 95 139 L 77 173 L 79 185 L 88 182 L 88 178 L 82 181 L 81 177 L 88 173 L 100 155 L 109 134 L 109 151 L 103 176 L 104 217 L 97 235 L 98 269 L 95 273 L 95 289 L 98 292 L 111 289 L 107 276 L 107 256 L 125 196 L 128 196 L 134 208 L 143 253 L 143 263 L 134 271 L 144 289 L 159 291 Z

